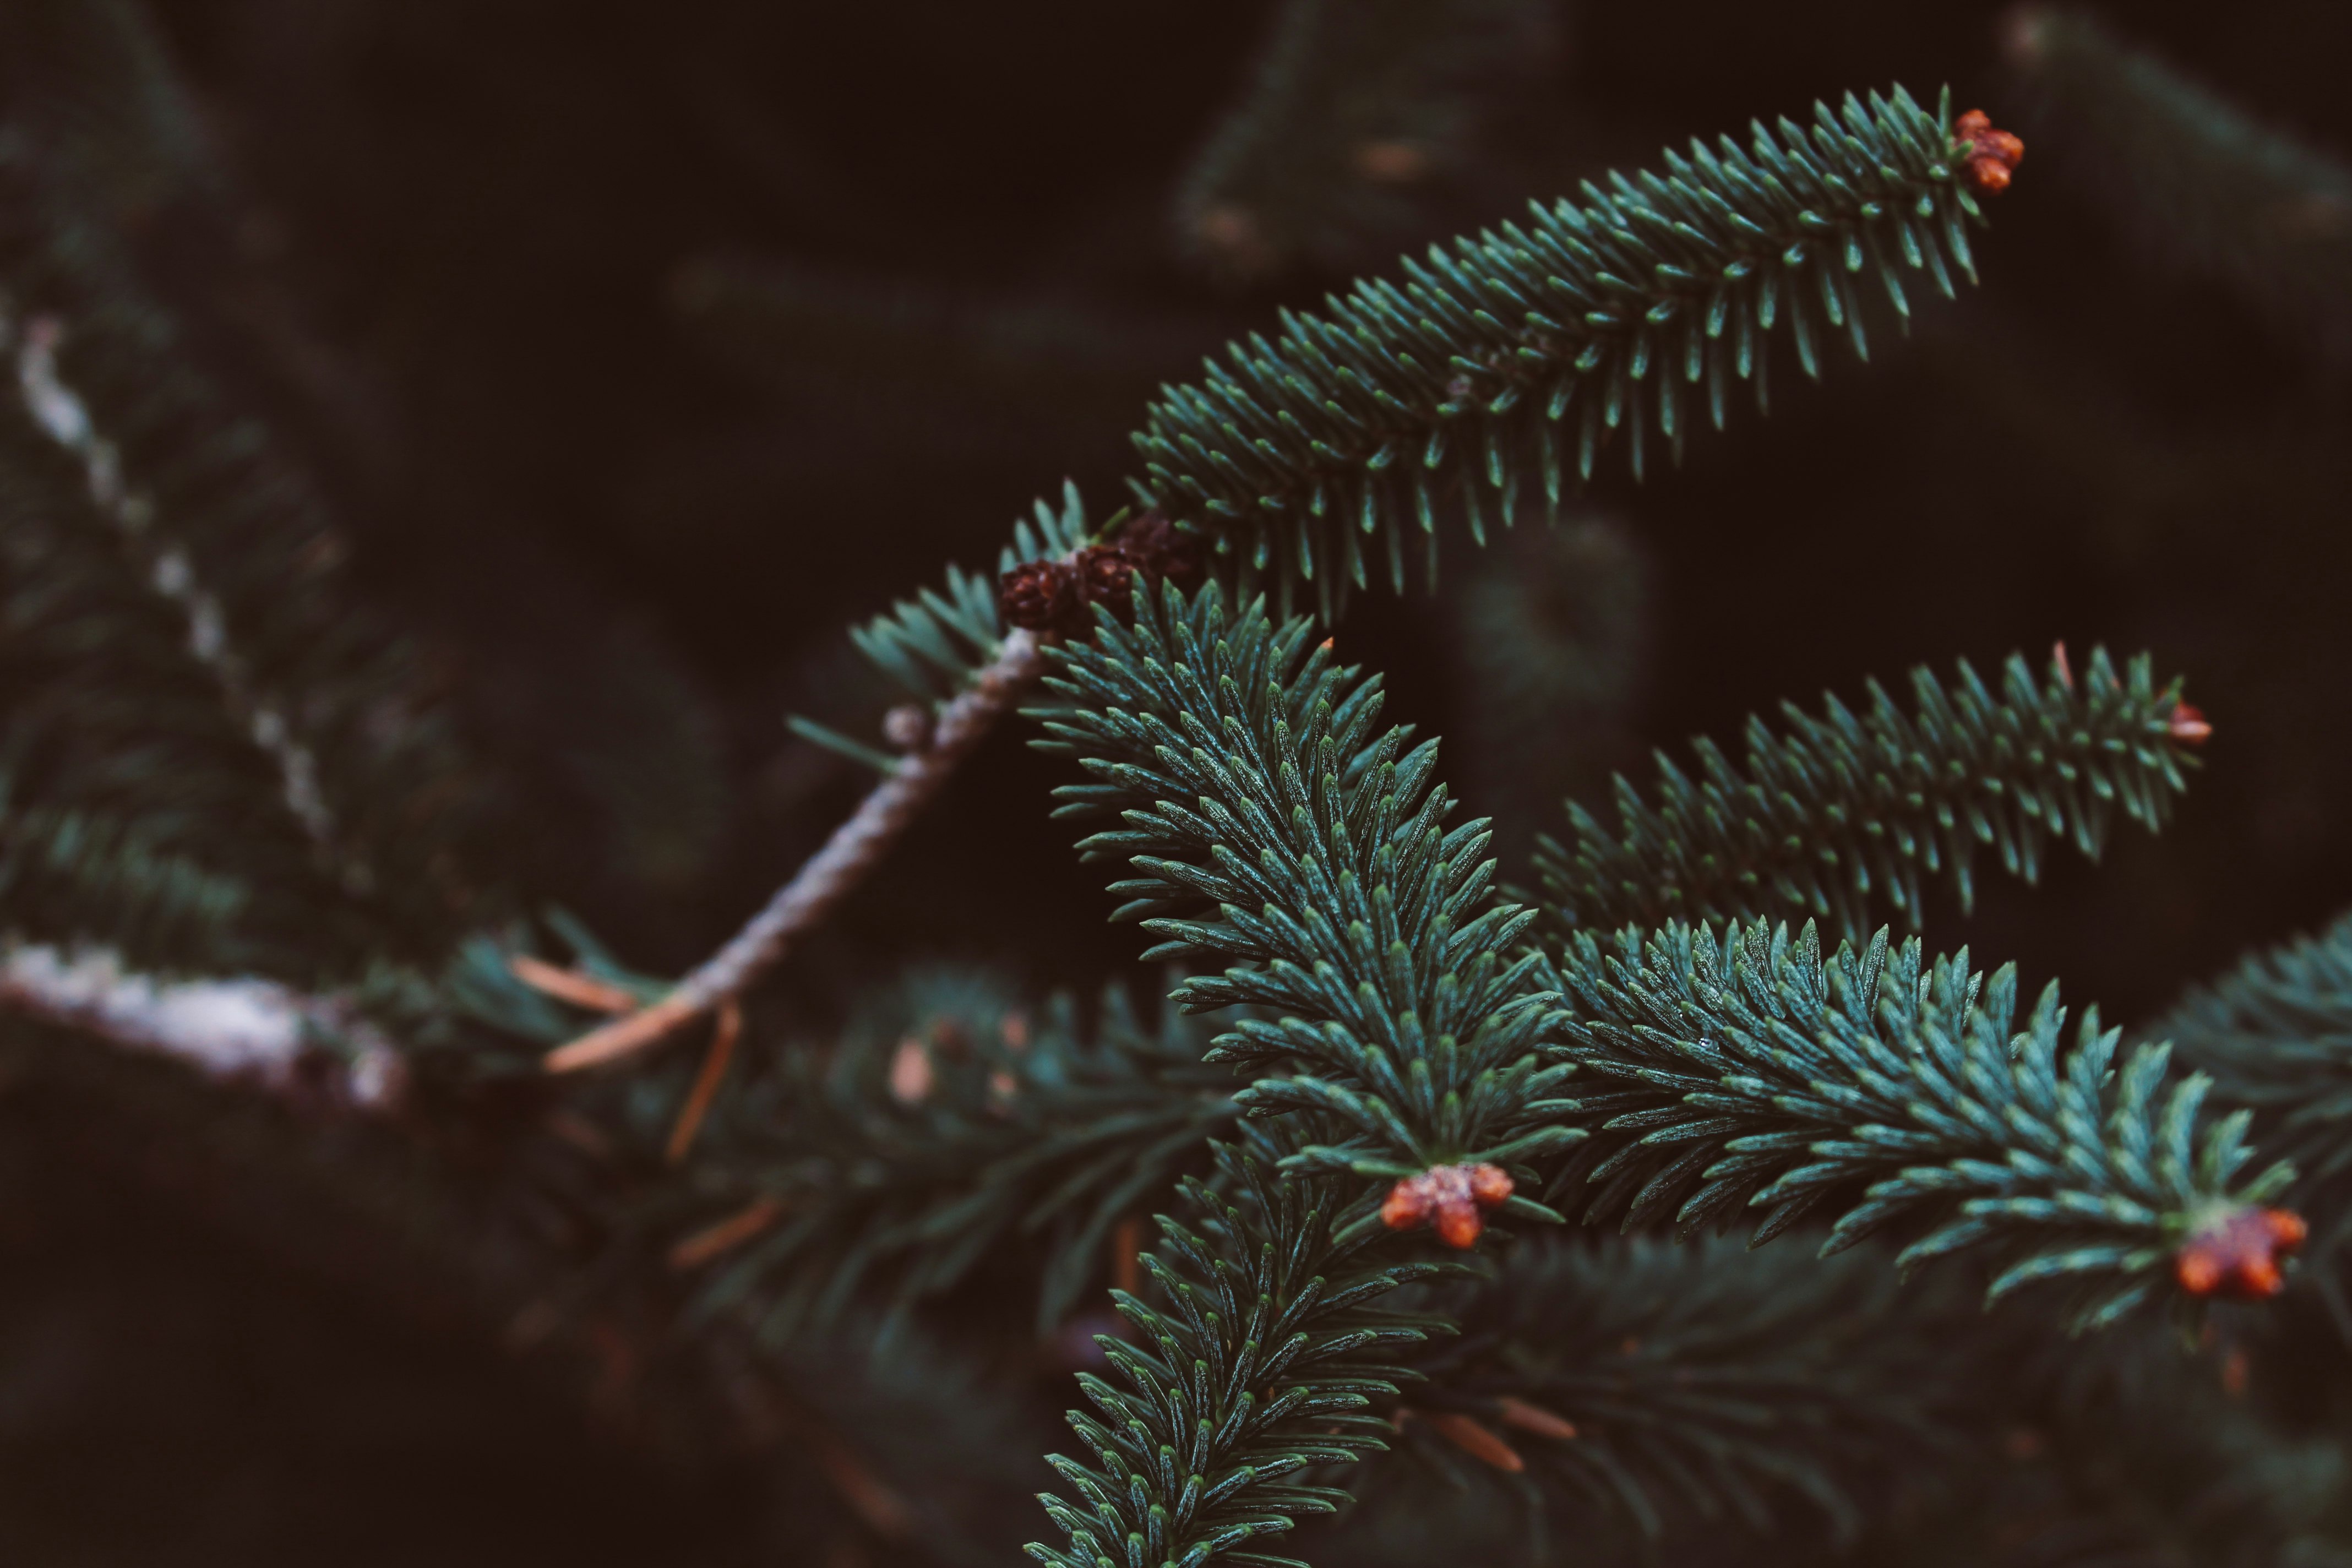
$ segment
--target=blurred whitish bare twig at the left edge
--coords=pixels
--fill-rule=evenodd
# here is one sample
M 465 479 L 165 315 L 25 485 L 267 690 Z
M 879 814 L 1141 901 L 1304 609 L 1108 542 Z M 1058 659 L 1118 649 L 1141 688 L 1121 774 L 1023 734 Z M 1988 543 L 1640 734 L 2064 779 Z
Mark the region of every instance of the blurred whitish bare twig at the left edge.
M 0 952 L 0 1006 L 292 1098 L 388 1112 L 407 1086 L 400 1051 L 350 1009 L 256 976 L 158 980 L 106 950 L 24 945 Z

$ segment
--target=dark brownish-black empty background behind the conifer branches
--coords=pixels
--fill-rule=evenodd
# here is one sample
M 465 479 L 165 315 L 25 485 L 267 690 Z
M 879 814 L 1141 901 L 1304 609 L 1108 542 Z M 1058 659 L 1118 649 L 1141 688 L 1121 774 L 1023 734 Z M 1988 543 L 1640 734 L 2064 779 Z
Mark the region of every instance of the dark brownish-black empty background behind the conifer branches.
M 844 628 L 988 564 L 1065 475 L 1115 505 L 1160 381 L 1345 280 L 1221 282 L 1171 230 L 1268 9 L 176 0 L 155 16 L 228 221 L 125 221 L 153 223 L 165 287 L 325 482 L 369 590 L 440 649 L 532 802 L 539 886 L 675 971 L 863 783 L 783 729 L 873 733 L 889 698 Z M 2352 146 L 2352 9 L 2107 16 Z M 1997 26 L 1566 7 L 1477 169 L 1388 252 L 1846 89 L 1952 82 L 2006 125 Z M 2178 825 L 1933 922 L 2138 1018 L 2352 903 L 2352 449 L 2293 324 L 2150 254 L 2027 141 L 1983 289 L 1907 341 L 1882 324 L 1867 369 L 1783 374 L 1769 421 L 1736 414 L 1679 473 L 1606 465 L 1592 503 L 1644 562 L 1644 625 L 1578 766 L 1919 661 L 2152 649 L 2216 722 Z M 1439 733 L 1475 701 L 1477 635 L 1418 597 L 1341 628 Z M 993 741 L 788 1006 L 821 1020 L 908 957 L 1040 987 L 1127 964 L 1047 823 L 1058 778 Z M 209 1229 L 221 1204 L 136 1135 L 64 1133 L 87 1112 L 0 1095 L 0 1556 L 748 1561 L 764 1537 L 774 1497 L 600 1446 L 430 1314 Z

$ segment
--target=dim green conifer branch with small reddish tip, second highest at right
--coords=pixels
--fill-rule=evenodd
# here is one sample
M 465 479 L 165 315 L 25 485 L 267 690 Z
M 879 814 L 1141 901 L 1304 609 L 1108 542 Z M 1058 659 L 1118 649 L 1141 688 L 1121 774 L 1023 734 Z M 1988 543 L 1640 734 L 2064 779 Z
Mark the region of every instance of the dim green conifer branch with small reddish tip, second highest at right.
M 1780 715 L 1788 736 L 1748 719 L 1745 771 L 1700 738 L 1696 780 L 1658 755 L 1656 804 L 1618 778 L 1616 832 L 1571 802 L 1573 856 L 1536 849 L 1555 929 L 1820 917 L 1865 940 L 1877 900 L 1917 926 L 1929 875 L 1973 905 L 1978 846 L 2037 882 L 2051 839 L 2096 860 L 2117 813 L 2154 832 L 2211 733 L 2147 656 L 2093 649 L 2077 677 L 2063 646 L 2039 682 L 2011 656 L 1999 696 L 1962 661 L 1952 686 L 1912 670 L 1907 715 L 1877 682 L 1860 715 Z

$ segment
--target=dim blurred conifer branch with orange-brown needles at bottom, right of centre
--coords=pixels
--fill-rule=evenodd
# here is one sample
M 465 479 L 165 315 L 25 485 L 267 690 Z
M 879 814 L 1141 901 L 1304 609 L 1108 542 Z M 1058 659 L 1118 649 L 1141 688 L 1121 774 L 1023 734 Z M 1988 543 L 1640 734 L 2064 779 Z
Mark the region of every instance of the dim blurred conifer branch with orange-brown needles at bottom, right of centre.
M 1872 1483 L 1952 1458 L 2018 1340 L 1966 1291 L 1900 1288 L 1872 1251 L 1729 1239 L 1531 1237 L 1444 1307 L 1461 1333 L 1414 1356 L 1397 1453 L 1352 1476 L 1371 1509 L 1355 1528 L 1381 1528 L 1388 1493 L 1428 1507 L 1409 1476 L 1428 1467 L 1470 1507 L 1524 1474 L 1562 1523 L 1599 1512 L 1646 1540 L 1677 1512 L 1764 1533 L 1802 1500 L 1851 1544 Z

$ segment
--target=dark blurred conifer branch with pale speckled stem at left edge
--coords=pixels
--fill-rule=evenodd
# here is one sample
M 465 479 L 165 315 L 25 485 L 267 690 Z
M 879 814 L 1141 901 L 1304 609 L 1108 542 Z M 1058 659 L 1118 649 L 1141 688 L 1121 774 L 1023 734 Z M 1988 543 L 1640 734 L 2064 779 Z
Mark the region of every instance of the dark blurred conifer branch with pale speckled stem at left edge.
M 198 120 L 136 7 L 0 26 L 0 926 L 287 978 L 437 959 L 487 797 L 122 221 L 219 195 Z

